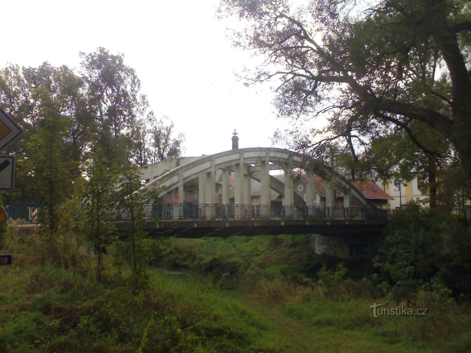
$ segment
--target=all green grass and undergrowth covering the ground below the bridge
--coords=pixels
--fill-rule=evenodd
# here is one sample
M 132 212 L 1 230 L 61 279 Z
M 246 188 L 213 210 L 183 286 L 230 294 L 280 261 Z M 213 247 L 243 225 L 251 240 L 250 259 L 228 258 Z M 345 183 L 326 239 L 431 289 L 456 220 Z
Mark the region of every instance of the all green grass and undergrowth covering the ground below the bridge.
M 427 287 L 435 280 L 422 276 L 422 262 L 409 264 L 417 270 L 414 303 L 396 303 L 396 277 L 374 275 L 371 260 L 313 255 L 309 236 L 162 236 L 148 245 L 152 257 L 138 253 L 145 285 L 136 286 L 132 257 L 119 260 L 125 244 L 107 245 L 97 281 L 98 255 L 86 235 L 54 234 L 13 223 L 2 235 L 15 260 L 0 268 L 1 352 L 471 349 L 468 302 L 453 299 L 443 283 Z M 428 315 L 374 317 L 374 303 L 426 308 Z

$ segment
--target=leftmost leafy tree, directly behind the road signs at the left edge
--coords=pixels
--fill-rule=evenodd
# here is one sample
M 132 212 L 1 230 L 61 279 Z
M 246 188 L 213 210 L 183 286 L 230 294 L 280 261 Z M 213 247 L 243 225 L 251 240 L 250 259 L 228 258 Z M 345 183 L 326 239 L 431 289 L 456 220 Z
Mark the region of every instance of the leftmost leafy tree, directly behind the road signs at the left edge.
M 20 69 L 9 64 L 0 70 L 0 104 L 24 131 L 6 150 L 16 155 L 16 187 L 8 199 L 43 204 L 45 198 L 40 195 L 45 190 L 35 187 L 41 185 L 41 170 L 49 165 L 44 160 L 47 156 L 57 153 L 66 163 L 66 168 L 61 167 L 62 162 L 58 164 L 64 169 L 61 180 L 68 178 L 70 183 L 81 176 L 78 163 L 89 147 L 93 126 L 81 79 L 67 66 L 45 62 L 37 68 Z M 56 157 L 53 159 L 59 162 Z

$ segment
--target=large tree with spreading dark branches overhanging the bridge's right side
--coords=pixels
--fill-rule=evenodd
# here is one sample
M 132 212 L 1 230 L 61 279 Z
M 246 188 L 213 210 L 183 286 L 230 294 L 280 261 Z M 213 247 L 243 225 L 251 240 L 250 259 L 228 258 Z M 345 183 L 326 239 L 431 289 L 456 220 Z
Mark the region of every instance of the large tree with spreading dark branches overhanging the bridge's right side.
M 451 144 L 471 179 L 471 12 L 467 1 L 315 0 L 291 11 L 284 0 L 222 0 L 220 13 L 245 21 L 235 44 L 266 58 L 249 82 L 278 80 L 279 115 L 327 116 L 323 131 L 297 136 L 322 155 L 342 140 L 354 160 L 395 128 L 435 158 L 414 131 L 423 124 Z M 312 150 L 314 149 L 314 150 Z

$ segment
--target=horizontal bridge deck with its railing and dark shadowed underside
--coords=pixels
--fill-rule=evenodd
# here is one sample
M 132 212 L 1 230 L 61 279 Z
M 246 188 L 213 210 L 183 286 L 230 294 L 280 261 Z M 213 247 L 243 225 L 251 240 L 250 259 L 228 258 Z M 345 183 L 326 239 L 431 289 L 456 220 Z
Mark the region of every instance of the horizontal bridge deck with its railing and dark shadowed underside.
M 389 210 L 264 205 L 149 205 L 150 235 L 180 238 L 325 234 L 373 236 L 388 223 Z M 123 219 L 118 230 L 129 226 Z

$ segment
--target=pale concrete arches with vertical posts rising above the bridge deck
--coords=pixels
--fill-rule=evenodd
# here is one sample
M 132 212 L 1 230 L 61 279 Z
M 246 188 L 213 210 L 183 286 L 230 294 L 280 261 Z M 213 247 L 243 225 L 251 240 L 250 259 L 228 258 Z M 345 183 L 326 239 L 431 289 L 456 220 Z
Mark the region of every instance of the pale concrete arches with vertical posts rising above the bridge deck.
M 186 162 L 187 161 L 187 162 Z M 283 169 L 285 175 L 291 175 L 293 168 L 302 168 L 306 172 L 306 206 L 314 205 L 314 175 L 309 170 L 312 163 L 319 164 L 308 156 L 281 148 L 254 147 L 233 149 L 196 159 L 187 159 L 160 176 L 146 183 L 144 188 L 160 188 L 160 195 L 177 190 L 179 200 L 184 197 L 184 184 L 199 179 L 199 203 L 215 202 L 216 170 L 222 171 L 222 203 L 229 203 L 229 173 L 234 171 L 235 204 L 251 203 L 251 179 L 260 182 L 260 203 L 270 204 L 270 190 L 283 195 L 283 204 L 292 206 L 295 202 L 303 202 L 302 198 L 293 193 L 292 178 L 284 178 L 284 182 L 270 176 L 272 169 Z M 354 185 L 344 177 L 335 173 L 332 168 L 322 165 L 325 174 L 326 206 L 334 207 L 334 187 L 344 192 L 344 207 L 351 202 L 358 206 L 366 206 L 368 201 Z M 146 167 L 143 167 L 146 168 Z

